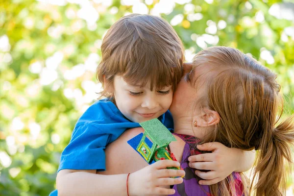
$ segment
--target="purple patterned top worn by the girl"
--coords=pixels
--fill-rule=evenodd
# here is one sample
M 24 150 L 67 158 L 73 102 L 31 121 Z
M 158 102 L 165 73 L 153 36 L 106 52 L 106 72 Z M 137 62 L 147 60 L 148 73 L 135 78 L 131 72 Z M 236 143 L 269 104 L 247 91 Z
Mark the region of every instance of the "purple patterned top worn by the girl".
M 201 154 L 202 152 L 196 148 L 196 145 L 200 142 L 199 139 L 190 135 L 174 134 L 180 137 L 186 142 L 183 156 L 181 161 L 181 167 L 186 172 L 183 178 L 183 183 L 173 186 L 175 194 L 172 196 L 212 196 L 208 185 L 199 185 L 198 181 L 201 179 L 196 176 L 195 169 L 189 167 L 188 158 L 194 154 Z M 239 173 L 233 172 L 233 176 L 236 181 L 236 191 L 243 190 L 243 184 Z M 237 191 L 237 196 L 242 196 L 242 191 Z

